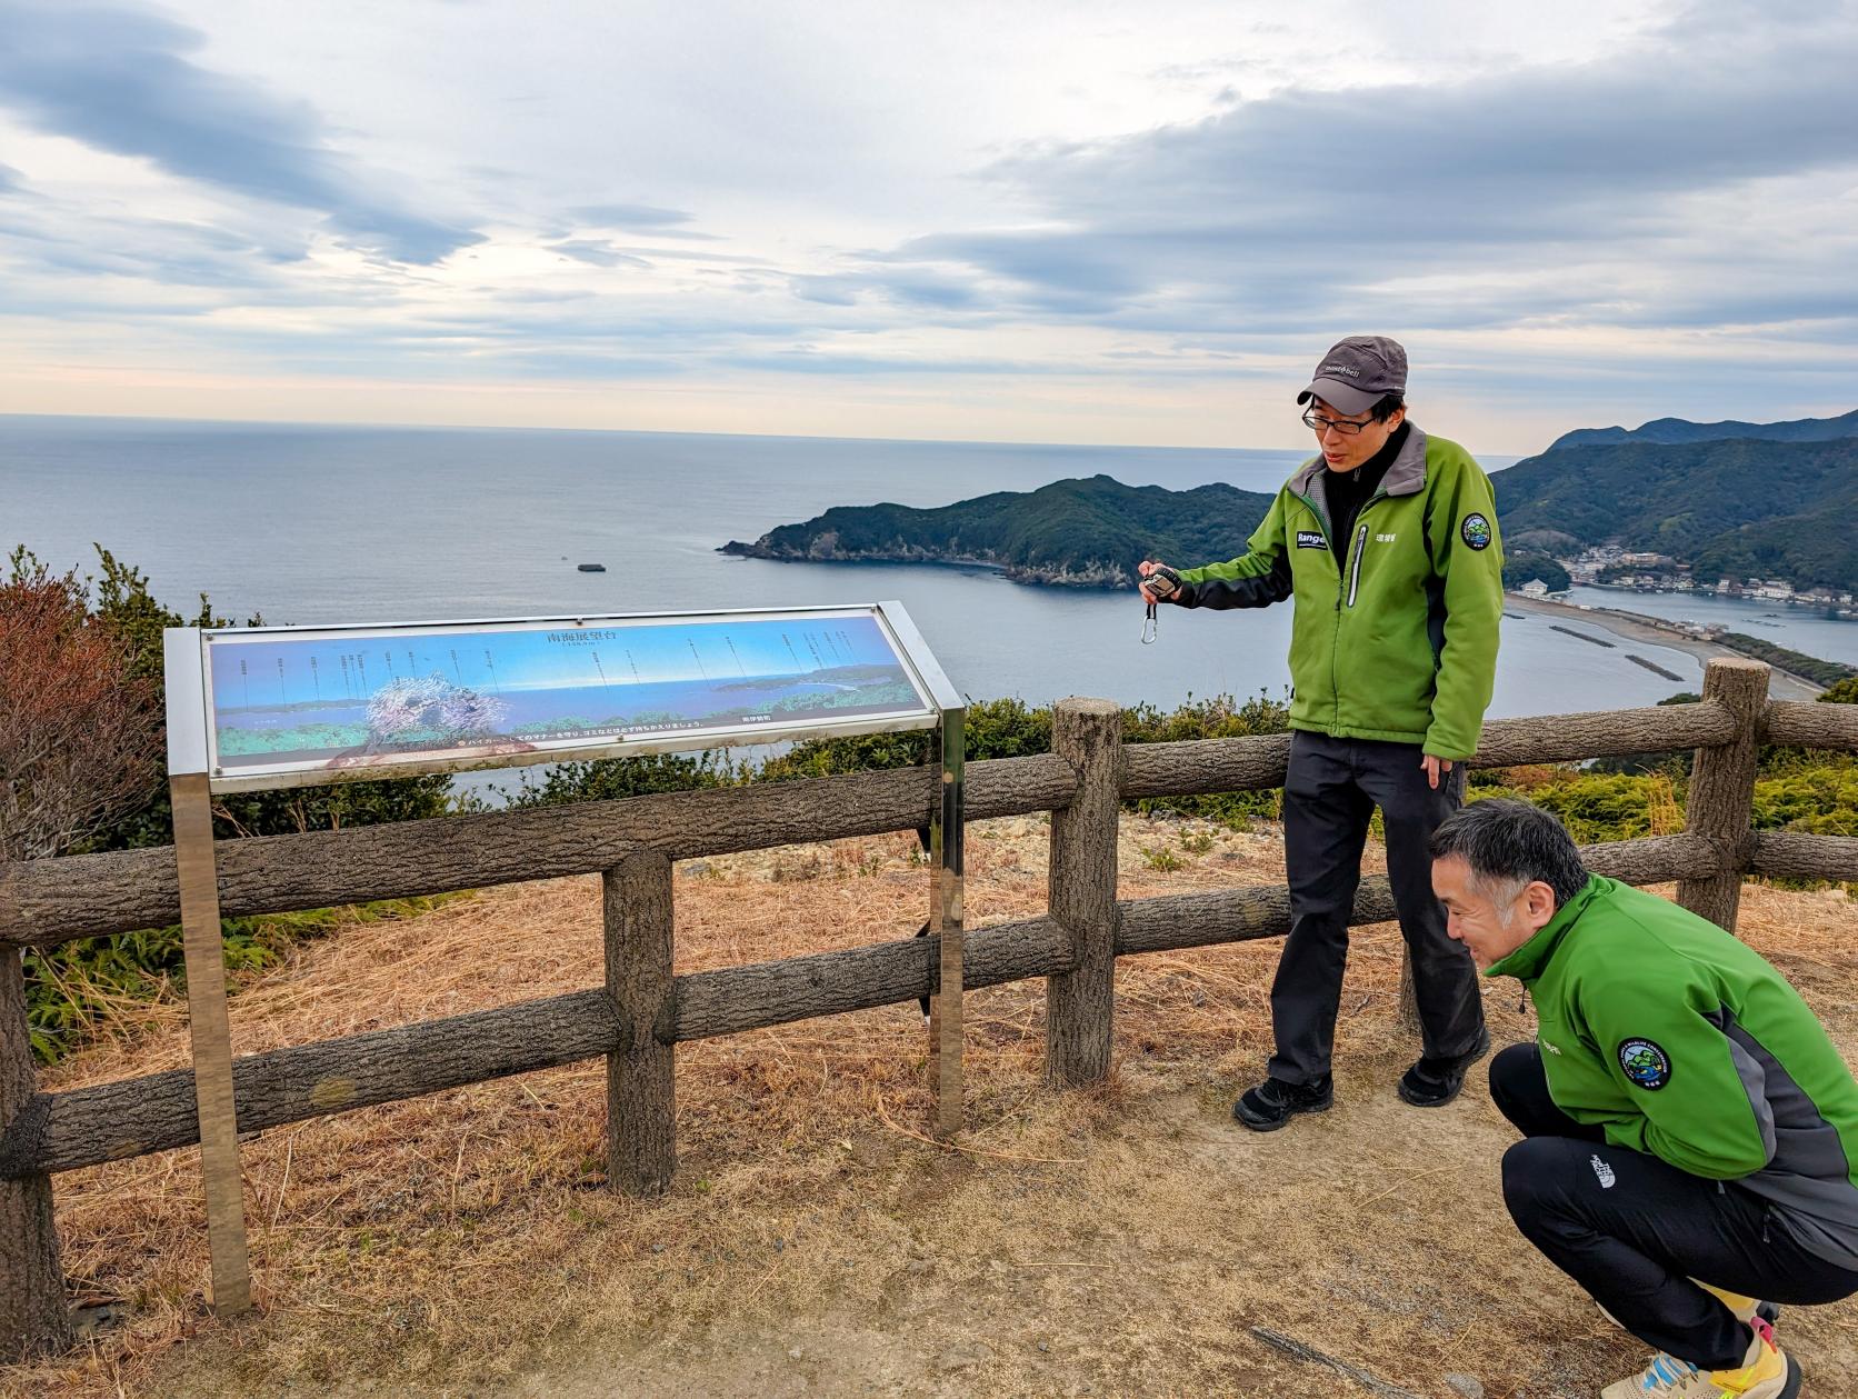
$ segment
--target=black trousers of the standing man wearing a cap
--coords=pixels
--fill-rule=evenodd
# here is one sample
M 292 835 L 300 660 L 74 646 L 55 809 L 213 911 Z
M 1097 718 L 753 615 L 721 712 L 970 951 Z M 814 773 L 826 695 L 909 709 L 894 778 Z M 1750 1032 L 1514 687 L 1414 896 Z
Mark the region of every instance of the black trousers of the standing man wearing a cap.
M 1433 830 L 1464 803 L 1464 765 L 1425 784 L 1418 745 L 1328 738 L 1295 730 L 1284 778 L 1284 864 L 1291 929 L 1271 987 L 1276 1053 L 1271 1078 L 1315 1083 L 1336 1044 L 1341 972 L 1349 959 L 1349 912 L 1362 881 L 1367 821 L 1380 808 L 1388 881 L 1399 931 L 1412 957 L 1425 1053 L 1468 1053 L 1485 1026 L 1477 968 L 1446 936 L 1446 909 L 1433 897 Z

